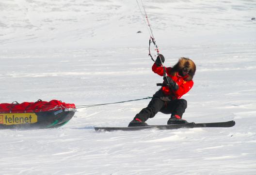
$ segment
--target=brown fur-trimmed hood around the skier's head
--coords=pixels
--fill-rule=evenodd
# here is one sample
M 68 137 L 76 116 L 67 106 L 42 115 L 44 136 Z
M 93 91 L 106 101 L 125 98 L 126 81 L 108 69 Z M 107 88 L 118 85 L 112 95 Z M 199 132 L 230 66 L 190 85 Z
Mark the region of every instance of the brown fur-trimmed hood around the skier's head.
M 185 79 L 186 81 L 190 81 L 193 79 L 195 74 L 196 66 L 195 63 L 190 58 L 181 57 L 178 62 L 173 66 L 171 72 L 174 76 L 176 72 L 181 73 L 183 68 L 187 68 L 189 70 L 189 75 Z

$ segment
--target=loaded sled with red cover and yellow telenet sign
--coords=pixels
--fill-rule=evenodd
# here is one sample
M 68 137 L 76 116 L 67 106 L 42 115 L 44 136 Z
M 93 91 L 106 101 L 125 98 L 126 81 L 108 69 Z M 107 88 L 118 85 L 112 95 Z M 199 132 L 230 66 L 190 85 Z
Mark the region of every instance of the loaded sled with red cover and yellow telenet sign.
M 75 114 L 76 105 L 58 100 L 0 103 L 0 129 L 58 128 Z

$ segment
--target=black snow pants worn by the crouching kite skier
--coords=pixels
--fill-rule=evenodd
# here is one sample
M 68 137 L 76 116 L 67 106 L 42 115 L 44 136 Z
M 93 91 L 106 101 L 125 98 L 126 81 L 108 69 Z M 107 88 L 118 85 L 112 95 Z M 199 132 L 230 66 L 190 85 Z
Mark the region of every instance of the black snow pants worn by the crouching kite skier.
M 184 99 L 175 99 L 172 101 L 162 101 L 160 97 L 164 97 L 161 90 L 157 91 L 146 108 L 142 109 L 135 118 L 139 118 L 143 122 L 148 118 L 154 117 L 159 111 L 163 114 L 172 114 L 182 117 L 187 108 L 187 101 Z

